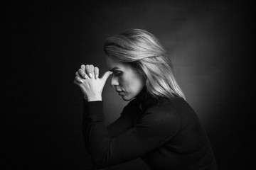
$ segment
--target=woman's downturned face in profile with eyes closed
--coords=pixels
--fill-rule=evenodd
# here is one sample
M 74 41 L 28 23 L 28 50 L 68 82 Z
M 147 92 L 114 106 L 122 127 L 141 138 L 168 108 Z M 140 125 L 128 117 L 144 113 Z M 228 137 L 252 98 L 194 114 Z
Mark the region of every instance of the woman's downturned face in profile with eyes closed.
M 132 100 L 144 88 L 144 78 L 129 65 L 107 57 L 107 67 L 113 72 L 111 85 L 124 101 Z

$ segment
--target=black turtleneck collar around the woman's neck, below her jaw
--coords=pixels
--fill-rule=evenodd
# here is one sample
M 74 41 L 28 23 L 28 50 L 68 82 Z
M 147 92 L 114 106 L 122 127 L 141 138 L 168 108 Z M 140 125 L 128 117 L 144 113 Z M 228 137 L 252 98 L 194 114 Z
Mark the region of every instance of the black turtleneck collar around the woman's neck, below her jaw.
M 136 99 L 139 103 L 142 104 L 142 110 L 145 111 L 147 108 L 156 105 L 159 100 L 154 96 L 151 96 L 149 92 L 146 90 L 146 86 L 139 92 L 136 96 Z

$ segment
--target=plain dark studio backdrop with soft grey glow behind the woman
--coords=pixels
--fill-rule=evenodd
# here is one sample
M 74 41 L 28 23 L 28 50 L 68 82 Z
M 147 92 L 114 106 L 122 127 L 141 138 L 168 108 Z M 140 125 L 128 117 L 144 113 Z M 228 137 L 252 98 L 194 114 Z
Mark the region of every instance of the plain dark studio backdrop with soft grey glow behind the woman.
M 220 169 L 255 169 L 255 6 L 246 1 L 1 2 L 5 169 L 90 169 L 82 140 L 81 64 L 107 71 L 105 38 L 156 35 L 198 113 Z M 107 124 L 127 104 L 107 81 Z M 140 159 L 108 169 L 148 169 Z

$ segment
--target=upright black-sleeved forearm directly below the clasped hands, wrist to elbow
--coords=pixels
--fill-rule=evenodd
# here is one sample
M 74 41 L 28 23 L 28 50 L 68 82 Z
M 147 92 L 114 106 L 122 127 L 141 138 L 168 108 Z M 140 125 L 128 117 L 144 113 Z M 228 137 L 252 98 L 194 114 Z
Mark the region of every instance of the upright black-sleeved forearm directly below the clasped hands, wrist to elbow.
M 112 136 L 108 134 L 103 114 L 103 102 L 84 100 L 82 133 L 88 154 L 97 167 L 108 163 L 108 150 Z

